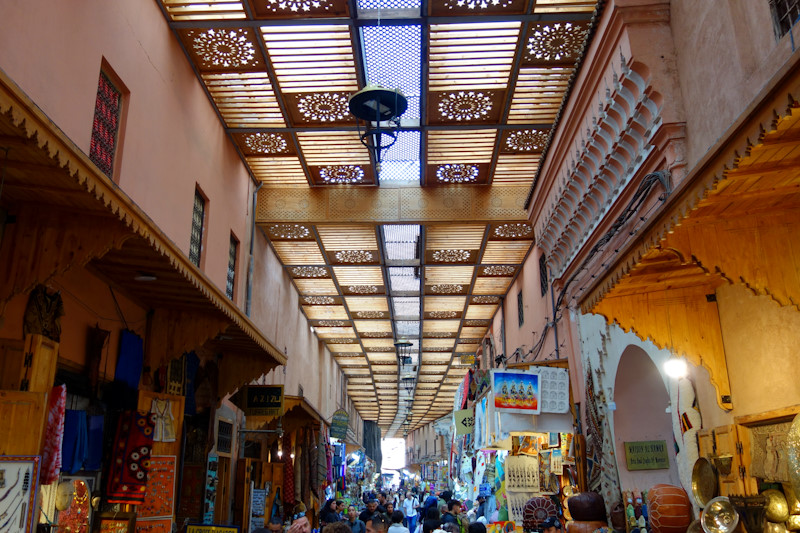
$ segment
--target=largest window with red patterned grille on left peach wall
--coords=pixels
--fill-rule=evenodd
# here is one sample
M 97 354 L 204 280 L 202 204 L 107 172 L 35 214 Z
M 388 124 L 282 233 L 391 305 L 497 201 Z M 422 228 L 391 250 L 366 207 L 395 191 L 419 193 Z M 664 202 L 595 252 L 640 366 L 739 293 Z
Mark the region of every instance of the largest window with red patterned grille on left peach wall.
M 97 100 L 94 104 L 92 140 L 89 144 L 89 159 L 111 177 L 114 173 L 114 153 L 117 149 L 122 93 L 104 73 L 100 73 Z

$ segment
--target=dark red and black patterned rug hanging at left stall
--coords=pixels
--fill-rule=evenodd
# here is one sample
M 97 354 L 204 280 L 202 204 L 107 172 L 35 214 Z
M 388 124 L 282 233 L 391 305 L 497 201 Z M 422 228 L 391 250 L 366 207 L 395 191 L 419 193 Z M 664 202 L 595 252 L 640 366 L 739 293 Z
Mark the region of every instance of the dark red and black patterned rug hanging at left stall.
M 125 411 L 120 415 L 108 474 L 109 503 L 144 503 L 154 425 L 150 413 Z

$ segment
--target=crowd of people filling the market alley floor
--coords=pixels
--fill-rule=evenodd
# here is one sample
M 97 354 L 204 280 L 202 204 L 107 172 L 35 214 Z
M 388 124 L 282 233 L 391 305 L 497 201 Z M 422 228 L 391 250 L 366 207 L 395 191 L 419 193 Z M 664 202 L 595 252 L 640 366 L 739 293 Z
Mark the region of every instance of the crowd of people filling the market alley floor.
M 486 502 L 453 498 L 450 491 L 439 494 L 411 491 L 366 491 L 359 505 L 346 506 L 343 500 L 325 502 L 319 513 L 321 533 L 486 533 Z M 559 527 L 552 528 L 556 533 Z M 311 533 L 311 520 L 305 507 L 296 507 L 285 533 Z M 284 525 L 274 518 L 256 533 L 284 533 Z

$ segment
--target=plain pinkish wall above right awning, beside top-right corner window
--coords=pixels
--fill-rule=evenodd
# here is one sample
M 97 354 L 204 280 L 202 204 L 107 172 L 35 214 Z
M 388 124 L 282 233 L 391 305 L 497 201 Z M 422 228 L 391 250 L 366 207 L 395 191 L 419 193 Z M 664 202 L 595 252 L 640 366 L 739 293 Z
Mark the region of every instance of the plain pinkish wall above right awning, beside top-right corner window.
M 679 0 L 670 15 L 691 168 L 786 62 L 792 45 L 788 34 L 777 41 L 768 2 Z M 800 42 L 800 26 L 794 39 Z

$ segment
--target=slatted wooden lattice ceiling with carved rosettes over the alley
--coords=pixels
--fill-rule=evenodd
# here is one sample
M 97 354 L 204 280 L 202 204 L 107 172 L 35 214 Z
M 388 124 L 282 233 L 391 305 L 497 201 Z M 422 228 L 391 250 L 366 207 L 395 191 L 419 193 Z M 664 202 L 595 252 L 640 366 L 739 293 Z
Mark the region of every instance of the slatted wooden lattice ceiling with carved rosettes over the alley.
M 303 194 L 342 187 L 401 188 L 406 197 L 431 187 L 486 188 L 523 197 L 596 4 L 160 0 L 242 160 L 263 184 L 261 196 L 285 195 L 299 206 L 308 205 Z M 399 88 L 409 103 L 380 168 L 348 109 L 350 95 L 367 83 Z M 403 429 L 412 429 L 452 409 L 466 370 L 460 355 L 474 353 L 532 244 L 532 232 L 497 233 L 504 222 L 519 224 L 517 214 L 441 226 L 428 224 L 423 210 L 414 221 L 421 223 L 418 253 L 404 260 L 392 259 L 401 246 L 384 231 L 392 226 L 374 225 L 385 218 L 364 226 L 293 225 L 284 217 L 259 224 L 302 298 L 313 299 L 303 309 L 349 376 L 359 411 L 394 432 L 406 418 Z M 441 221 L 434 215 L 428 220 Z M 278 223 L 283 233 L 274 231 Z M 292 226 L 307 233 L 289 236 Z M 417 329 L 416 337 L 406 333 Z M 415 339 L 415 350 L 421 344 L 410 407 L 398 387 L 398 337 Z

